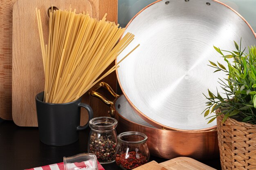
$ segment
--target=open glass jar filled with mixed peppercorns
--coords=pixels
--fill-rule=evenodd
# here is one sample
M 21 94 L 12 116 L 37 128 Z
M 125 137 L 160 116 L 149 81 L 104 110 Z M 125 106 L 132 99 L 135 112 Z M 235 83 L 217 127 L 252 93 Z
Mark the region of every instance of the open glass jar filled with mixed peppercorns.
M 88 152 L 95 154 L 99 163 L 115 161 L 117 146 L 117 120 L 112 117 L 96 117 L 89 121 L 91 128 Z

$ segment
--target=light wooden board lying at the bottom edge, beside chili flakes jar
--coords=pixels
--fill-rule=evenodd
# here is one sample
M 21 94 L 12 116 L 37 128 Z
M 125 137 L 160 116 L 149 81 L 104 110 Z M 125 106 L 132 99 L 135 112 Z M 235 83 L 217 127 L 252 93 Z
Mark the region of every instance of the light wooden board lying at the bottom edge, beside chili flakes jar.
M 177 157 L 162 163 L 151 161 L 134 170 L 216 170 L 189 157 Z

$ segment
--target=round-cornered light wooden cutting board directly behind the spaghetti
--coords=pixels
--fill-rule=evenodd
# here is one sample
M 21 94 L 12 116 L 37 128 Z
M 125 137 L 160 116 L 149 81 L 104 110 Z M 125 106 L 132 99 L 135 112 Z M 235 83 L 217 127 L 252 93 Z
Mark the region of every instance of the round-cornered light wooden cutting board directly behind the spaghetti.
M 59 9 L 71 5 L 92 15 L 88 0 L 18 0 L 13 5 L 12 117 L 18 126 L 38 126 L 34 97 L 44 90 L 44 72 L 35 8 L 41 11 L 47 44 L 47 9 L 52 5 Z

